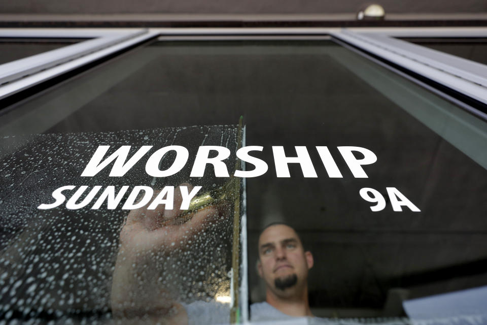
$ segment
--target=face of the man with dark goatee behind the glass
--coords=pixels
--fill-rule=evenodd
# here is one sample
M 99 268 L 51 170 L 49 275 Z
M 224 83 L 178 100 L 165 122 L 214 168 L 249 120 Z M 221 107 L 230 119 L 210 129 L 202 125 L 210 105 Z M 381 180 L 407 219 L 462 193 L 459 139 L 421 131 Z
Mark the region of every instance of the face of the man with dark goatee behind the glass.
M 304 251 L 296 232 L 285 224 L 268 227 L 259 238 L 258 271 L 276 294 L 306 285 L 313 265 L 310 252 Z

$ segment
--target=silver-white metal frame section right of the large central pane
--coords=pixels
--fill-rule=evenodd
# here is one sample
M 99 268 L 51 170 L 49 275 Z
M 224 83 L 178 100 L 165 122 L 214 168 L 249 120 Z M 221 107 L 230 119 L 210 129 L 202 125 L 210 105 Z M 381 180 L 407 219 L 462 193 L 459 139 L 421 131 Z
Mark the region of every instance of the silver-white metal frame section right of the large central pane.
M 487 105 L 487 66 L 455 55 L 429 49 L 397 37 L 485 37 L 487 28 L 402 28 L 380 30 L 343 29 L 332 34 L 336 39 L 397 64 L 469 98 Z M 472 113 L 486 119 L 479 110 Z

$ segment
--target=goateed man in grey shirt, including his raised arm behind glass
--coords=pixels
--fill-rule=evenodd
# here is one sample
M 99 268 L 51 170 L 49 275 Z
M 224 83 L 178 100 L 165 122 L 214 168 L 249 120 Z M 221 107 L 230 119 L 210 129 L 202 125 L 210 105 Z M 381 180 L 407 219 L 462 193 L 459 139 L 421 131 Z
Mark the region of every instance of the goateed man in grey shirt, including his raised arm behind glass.
M 183 184 L 191 187 L 189 184 Z M 189 188 L 188 190 L 191 190 Z M 182 201 L 175 192 L 175 206 Z M 194 235 L 214 224 L 224 209 L 208 207 L 186 223 L 171 222 L 178 210 L 132 210 L 120 232 L 120 250 L 113 274 L 111 304 L 114 318 L 123 323 L 211 324 L 228 323 L 222 304 L 180 304 L 160 284 L 159 262 L 181 250 Z M 252 320 L 312 316 L 307 298 L 307 274 L 313 265 L 310 252 L 288 225 L 274 223 L 259 237 L 259 275 L 266 283 L 266 302 L 251 306 Z

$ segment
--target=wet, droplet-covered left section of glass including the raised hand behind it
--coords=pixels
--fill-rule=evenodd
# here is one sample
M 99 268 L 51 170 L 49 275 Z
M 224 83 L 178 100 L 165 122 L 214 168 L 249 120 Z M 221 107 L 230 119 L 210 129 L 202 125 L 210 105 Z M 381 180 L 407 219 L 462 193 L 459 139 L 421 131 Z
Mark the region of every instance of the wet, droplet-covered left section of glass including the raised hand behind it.
M 180 184 L 202 186 L 201 196 L 218 192 L 227 179 L 211 174 L 191 178 L 190 163 L 175 177 L 153 177 L 144 170 L 148 157 L 123 177 L 109 177 L 109 170 L 80 175 L 100 145 L 112 148 L 107 155 L 130 145 L 129 156 L 144 145 L 184 145 L 194 157 L 203 143 L 235 152 L 236 135 L 236 126 L 222 125 L 2 139 L 2 148 L 12 152 L 0 163 L 3 318 L 86 323 L 115 314 L 133 320 L 164 299 L 215 301 L 228 318 L 234 202 L 217 200 L 189 211 L 182 221 L 175 218 L 181 211 Z M 175 152 L 168 152 L 158 168 L 166 170 L 174 159 Z M 227 165 L 234 171 L 235 164 Z M 127 210 L 141 185 L 154 194 L 141 191 L 138 200 L 150 202 L 165 186 L 174 186 L 175 206 L 165 210 L 161 202 L 153 210 L 147 204 Z M 55 203 L 51 193 L 60 186 L 71 186 L 62 192 L 66 201 L 41 210 Z M 113 199 L 103 197 L 105 192 Z M 168 194 L 162 198 L 169 199 Z M 158 286 L 163 289 L 155 297 Z

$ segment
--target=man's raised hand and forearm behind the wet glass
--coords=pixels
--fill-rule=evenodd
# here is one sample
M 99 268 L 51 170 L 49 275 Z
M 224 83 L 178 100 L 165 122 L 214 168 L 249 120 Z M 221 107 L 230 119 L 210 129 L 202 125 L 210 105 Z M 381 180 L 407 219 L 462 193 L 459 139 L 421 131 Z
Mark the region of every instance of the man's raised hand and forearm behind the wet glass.
M 181 184 L 191 190 L 190 184 Z M 154 196 L 157 192 L 154 193 Z M 179 187 L 174 206 L 181 206 Z M 166 322 L 186 319 L 184 309 L 173 300 L 173 293 L 160 287 L 160 260 L 191 246 L 194 236 L 219 216 L 216 207 L 207 207 L 178 222 L 179 209 L 146 207 L 132 210 L 120 232 L 120 250 L 112 282 L 112 311 L 116 318 L 151 319 Z M 178 321 L 179 323 L 179 321 Z

